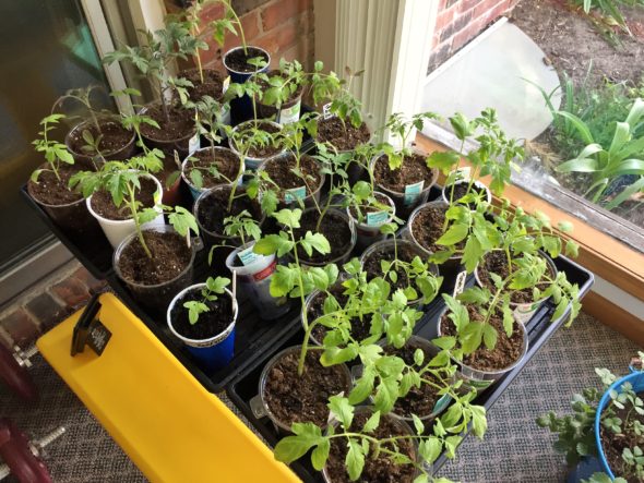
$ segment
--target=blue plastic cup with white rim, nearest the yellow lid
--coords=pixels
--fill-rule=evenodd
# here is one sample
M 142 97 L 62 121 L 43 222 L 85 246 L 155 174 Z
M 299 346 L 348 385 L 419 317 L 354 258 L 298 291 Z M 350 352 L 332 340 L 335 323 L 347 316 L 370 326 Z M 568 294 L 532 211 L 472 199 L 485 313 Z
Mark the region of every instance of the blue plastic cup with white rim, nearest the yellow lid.
M 232 293 L 226 289 L 226 294 L 232 300 L 232 322 L 225 330 L 216 336 L 208 339 L 189 339 L 175 329 L 171 319 L 175 303 L 180 301 L 187 292 L 201 290 L 203 287 L 205 287 L 205 283 L 196 283 L 177 293 L 168 306 L 167 322 L 170 331 L 186 345 L 186 349 L 196 359 L 199 365 L 206 372 L 212 373 L 228 365 L 235 355 L 235 325 L 237 322 L 238 305 Z

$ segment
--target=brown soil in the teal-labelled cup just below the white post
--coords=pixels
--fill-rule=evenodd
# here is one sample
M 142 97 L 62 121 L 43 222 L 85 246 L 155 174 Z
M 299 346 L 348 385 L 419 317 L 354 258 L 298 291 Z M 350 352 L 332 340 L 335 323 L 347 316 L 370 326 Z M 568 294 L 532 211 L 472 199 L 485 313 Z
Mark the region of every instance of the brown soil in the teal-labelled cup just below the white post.
M 373 167 L 375 183 L 396 193 L 404 193 L 406 185 L 425 181 L 422 186 L 425 191 L 434 183 L 438 176 L 436 169 L 427 167 L 426 159 L 427 156 L 420 154 L 405 156 L 401 168 L 392 171 L 386 156 L 383 155 L 378 158 Z

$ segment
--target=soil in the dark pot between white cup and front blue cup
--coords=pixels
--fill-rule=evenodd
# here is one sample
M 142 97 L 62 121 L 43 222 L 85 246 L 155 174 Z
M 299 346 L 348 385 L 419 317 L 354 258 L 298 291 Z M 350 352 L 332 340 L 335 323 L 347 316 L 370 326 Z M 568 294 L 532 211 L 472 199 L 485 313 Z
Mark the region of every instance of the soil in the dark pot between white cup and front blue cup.
M 192 252 L 183 237 L 152 230 L 144 231 L 143 237 L 152 258 L 138 240 L 126 246 L 119 261 L 126 280 L 146 286 L 163 283 L 176 278 L 190 263 Z

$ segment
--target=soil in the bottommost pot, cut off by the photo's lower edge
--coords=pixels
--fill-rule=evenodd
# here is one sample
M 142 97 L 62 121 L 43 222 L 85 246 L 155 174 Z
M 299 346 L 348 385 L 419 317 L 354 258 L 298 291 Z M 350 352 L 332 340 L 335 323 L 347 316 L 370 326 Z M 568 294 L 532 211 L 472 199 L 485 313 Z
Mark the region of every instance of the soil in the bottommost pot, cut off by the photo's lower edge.
M 369 419 L 369 413 L 358 413 L 354 415 L 351 423 L 351 431 L 359 431 Z M 337 431 L 336 431 L 337 433 Z M 372 433 L 374 437 L 384 439 L 392 436 L 404 436 L 408 433 L 395 423 L 391 416 L 382 416 L 380 424 Z M 398 443 L 398 451 L 407 455 L 410 459 L 415 459 L 416 450 L 409 439 L 402 439 Z M 387 448 L 385 445 L 384 448 Z M 416 469 L 413 464 L 396 464 L 386 454 L 381 452 L 378 458 L 373 458 L 372 447 L 365 459 L 365 469 L 362 474 L 357 480 L 363 483 L 409 483 L 414 481 Z M 392 448 L 390 448 L 392 449 Z M 326 471 L 331 481 L 334 483 L 349 483 L 349 475 L 346 472 L 345 459 L 347 457 L 348 447 L 345 438 L 333 438 L 331 440 L 331 451 L 329 460 L 326 461 Z

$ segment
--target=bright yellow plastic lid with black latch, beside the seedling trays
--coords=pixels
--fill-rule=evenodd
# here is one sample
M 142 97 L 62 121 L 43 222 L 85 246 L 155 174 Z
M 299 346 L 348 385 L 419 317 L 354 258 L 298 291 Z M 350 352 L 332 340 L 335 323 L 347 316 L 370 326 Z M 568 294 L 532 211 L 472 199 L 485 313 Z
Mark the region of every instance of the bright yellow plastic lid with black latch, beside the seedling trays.
M 70 355 L 82 311 L 40 337 L 37 346 L 147 479 L 299 481 L 122 302 L 111 293 L 99 301 L 98 318 L 111 333 L 100 357 L 90 347 Z

